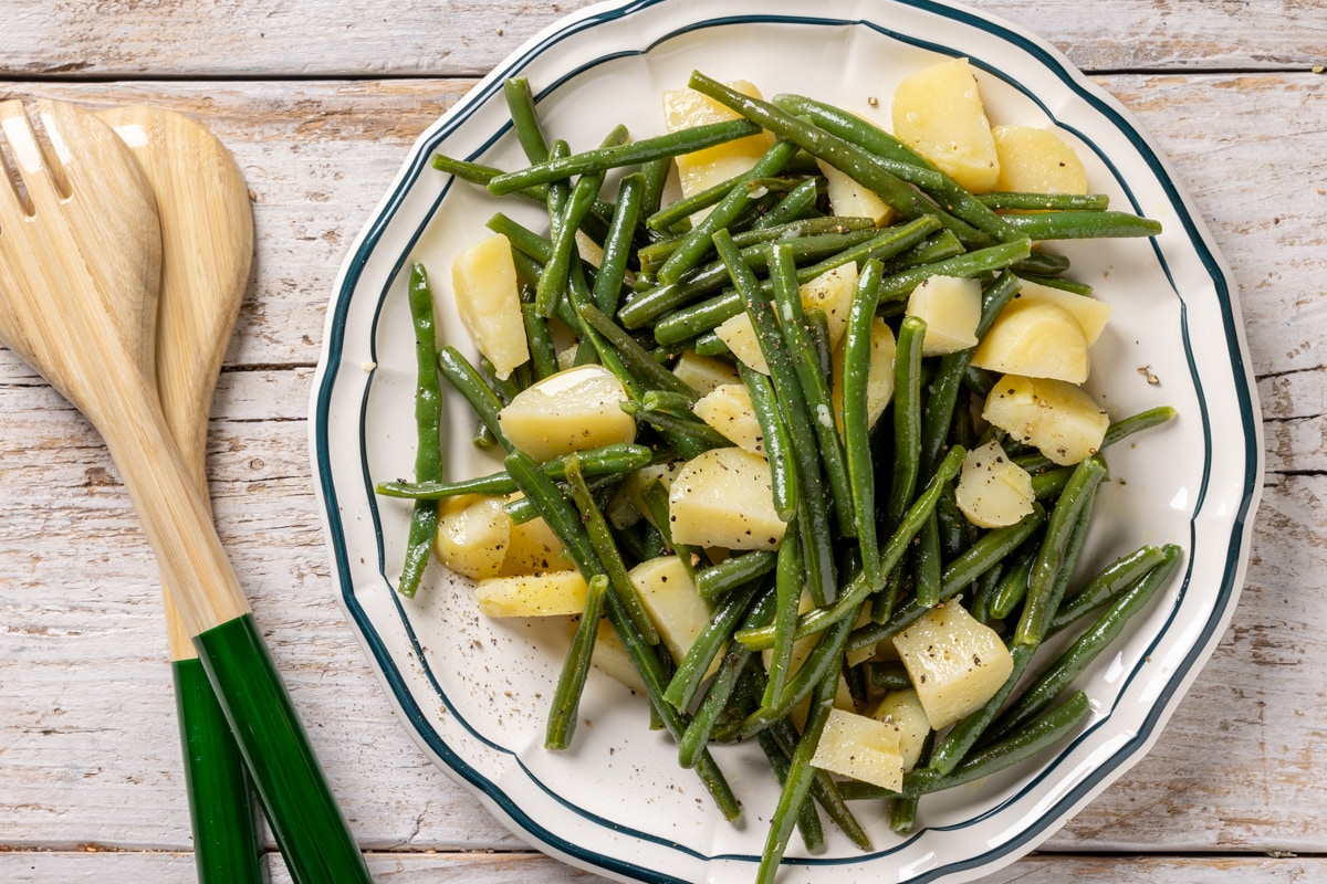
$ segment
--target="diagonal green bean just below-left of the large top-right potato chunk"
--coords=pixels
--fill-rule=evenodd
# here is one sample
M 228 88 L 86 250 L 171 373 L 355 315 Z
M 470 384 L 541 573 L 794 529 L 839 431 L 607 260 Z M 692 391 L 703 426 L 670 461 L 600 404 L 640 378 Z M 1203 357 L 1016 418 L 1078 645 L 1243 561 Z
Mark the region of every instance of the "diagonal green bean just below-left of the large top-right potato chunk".
M 880 158 L 880 162 L 901 180 L 920 187 L 955 217 L 995 240 L 1009 241 L 1019 237 L 1019 233 L 999 215 L 967 188 L 942 174 L 934 163 L 856 114 L 803 95 L 775 95 L 774 103 Z

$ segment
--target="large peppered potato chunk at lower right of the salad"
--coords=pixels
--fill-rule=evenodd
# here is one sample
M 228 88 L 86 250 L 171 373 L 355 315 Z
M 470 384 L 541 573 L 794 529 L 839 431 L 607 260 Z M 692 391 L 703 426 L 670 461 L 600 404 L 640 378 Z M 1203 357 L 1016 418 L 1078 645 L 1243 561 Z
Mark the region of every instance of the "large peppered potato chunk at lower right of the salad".
M 995 696 L 1014 659 L 999 634 L 958 602 L 946 602 L 894 636 L 926 720 L 947 728 Z

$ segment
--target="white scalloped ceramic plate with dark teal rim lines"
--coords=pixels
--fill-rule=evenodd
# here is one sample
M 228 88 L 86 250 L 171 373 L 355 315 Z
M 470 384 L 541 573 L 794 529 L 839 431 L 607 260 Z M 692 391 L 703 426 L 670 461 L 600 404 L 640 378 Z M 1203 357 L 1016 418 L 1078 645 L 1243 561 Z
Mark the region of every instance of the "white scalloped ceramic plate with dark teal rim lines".
M 418 140 L 342 268 L 312 402 L 312 453 L 341 600 L 419 745 L 515 832 L 577 865 L 626 880 L 747 881 L 776 789 L 750 751 L 719 751 L 746 807 L 722 820 L 645 701 L 592 679 L 576 745 L 543 749 L 560 628 L 478 615 L 463 580 L 434 567 L 418 598 L 394 590 L 407 510 L 374 482 L 409 473 L 414 378 L 405 268 L 433 269 L 442 334 L 463 346 L 447 304 L 450 256 L 480 239 L 499 205 L 433 171 L 434 151 L 515 168 L 500 82 L 528 77 L 548 131 L 593 146 L 616 122 L 662 129 L 658 93 L 699 68 L 766 94 L 800 91 L 880 114 L 896 82 L 938 54 L 971 58 L 995 122 L 1055 126 L 1083 156 L 1092 190 L 1160 219 L 1154 241 L 1066 244 L 1072 274 L 1112 302 L 1093 350 L 1095 390 L 1116 416 L 1156 404 L 1181 417 L 1109 452 L 1112 481 L 1087 565 L 1173 541 L 1184 570 L 1080 684 L 1089 724 L 1027 763 L 922 804 L 902 839 L 863 811 L 874 850 L 831 832 L 808 856 L 796 838 L 786 880 L 961 880 L 1023 855 L 1133 765 L 1156 740 L 1221 636 L 1239 591 L 1262 473 L 1254 384 L 1234 285 L 1165 159 L 1109 97 L 1038 38 L 928 0 L 637 0 L 585 9 L 544 32 Z M 796 60 L 795 62 L 791 60 Z M 869 98 L 881 97 L 880 109 Z M 518 201 L 500 208 L 520 212 Z M 539 213 L 529 216 L 539 223 Z M 1160 379 L 1148 383 L 1147 375 Z M 474 420 L 450 403 L 455 476 L 492 469 L 470 445 Z M 832 828 L 832 827 L 829 827 Z

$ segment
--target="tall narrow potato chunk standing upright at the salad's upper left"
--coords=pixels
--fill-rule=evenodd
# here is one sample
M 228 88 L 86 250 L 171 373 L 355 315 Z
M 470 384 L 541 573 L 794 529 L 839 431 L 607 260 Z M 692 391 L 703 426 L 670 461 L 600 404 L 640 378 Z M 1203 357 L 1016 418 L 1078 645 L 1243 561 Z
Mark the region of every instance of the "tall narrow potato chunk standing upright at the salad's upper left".
M 506 380 L 529 359 L 520 286 L 507 237 L 495 233 L 458 254 L 451 264 L 451 289 L 460 325 L 494 364 L 494 374 Z

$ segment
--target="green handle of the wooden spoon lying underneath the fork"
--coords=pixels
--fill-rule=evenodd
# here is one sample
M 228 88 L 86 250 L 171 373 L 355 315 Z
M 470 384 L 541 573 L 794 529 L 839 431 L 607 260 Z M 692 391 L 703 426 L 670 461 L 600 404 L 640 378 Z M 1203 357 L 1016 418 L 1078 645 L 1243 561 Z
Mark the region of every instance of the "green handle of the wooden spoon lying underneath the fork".
M 198 657 L 171 664 L 199 884 L 263 884 L 244 759 Z

